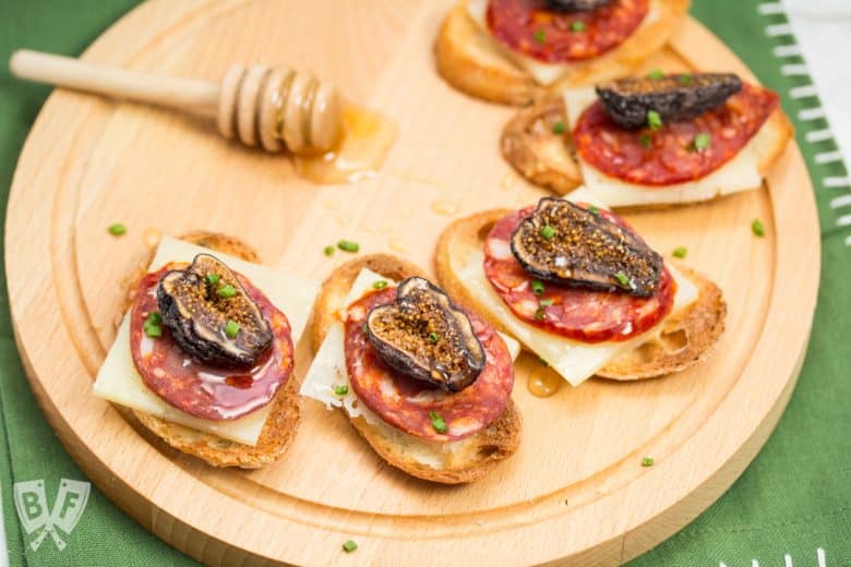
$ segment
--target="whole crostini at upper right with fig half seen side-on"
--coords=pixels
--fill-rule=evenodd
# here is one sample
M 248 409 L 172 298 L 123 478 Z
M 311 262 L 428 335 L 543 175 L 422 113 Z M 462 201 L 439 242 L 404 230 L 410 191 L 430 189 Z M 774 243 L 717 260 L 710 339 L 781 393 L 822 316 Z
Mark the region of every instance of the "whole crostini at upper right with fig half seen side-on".
M 556 193 L 582 184 L 612 207 L 654 207 L 760 188 L 793 133 L 767 88 L 729 73 L 655 71 L 518 112 L 501 148 Z

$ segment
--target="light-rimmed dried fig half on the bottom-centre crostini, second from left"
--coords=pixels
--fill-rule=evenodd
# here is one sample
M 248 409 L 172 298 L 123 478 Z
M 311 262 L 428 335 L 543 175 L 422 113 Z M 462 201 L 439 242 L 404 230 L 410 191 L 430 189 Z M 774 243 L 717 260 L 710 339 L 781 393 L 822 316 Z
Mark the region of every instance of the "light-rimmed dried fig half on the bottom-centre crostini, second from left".
M 447 391 L 460 391 L 484 370 L 484 349 L 467 314 L 420 277 L 403 280 L 396 301 L 372 307 L 365 331 L 388 365 Z

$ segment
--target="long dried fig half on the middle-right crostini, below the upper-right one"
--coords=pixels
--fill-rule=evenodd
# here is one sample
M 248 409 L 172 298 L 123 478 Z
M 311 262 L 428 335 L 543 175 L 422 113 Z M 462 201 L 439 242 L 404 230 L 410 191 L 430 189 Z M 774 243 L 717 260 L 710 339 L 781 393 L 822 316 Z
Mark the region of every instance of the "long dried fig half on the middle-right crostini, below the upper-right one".
M 615 218 L 544 197 L 512 234 L 512 252 L 527 273 L 543 280 L 650 297 L 659 287 L 662 256 Z

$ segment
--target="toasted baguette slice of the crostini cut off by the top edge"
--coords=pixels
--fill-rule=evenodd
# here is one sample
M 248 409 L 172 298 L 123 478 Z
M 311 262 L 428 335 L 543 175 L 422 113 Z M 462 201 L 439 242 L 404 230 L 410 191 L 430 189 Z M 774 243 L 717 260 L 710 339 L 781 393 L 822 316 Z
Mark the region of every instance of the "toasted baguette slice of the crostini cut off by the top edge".
M 507 48 L 472 21 L 464 1 L 450 11 L 438 34 L 438 71 L 468 95 L 514 106 L 552 97 L 564 86 L 622 76 L 668 43 L 688 10 L 688 0 L 651 0 L 650 4 L 655 17 L 648 17 L 622 45 L 589 61 L 571 64 L 567 74 L 552 85 L 539 85 L 512 61 Z

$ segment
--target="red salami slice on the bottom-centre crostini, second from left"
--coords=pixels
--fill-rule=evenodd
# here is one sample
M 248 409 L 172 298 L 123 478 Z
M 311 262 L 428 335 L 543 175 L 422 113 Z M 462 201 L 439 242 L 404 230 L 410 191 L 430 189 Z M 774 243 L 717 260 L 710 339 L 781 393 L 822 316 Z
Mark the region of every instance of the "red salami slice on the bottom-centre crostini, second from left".
M 505 342 L 481 317 L 467 312 L 487 358 L 476 382 L 448 393 L 410 378 L 385 364 L 363 333 L 369 310 L 395 297 L 395 288 L 373 291 L 345 312 L 346 370 L 355 394 L 389 425 L 425 439 L 456 441 L 490 425 L 505 410 L 514 386 L 514 366 Z M 431 412 L 443 418 L 446 433 L 434 431 Z

